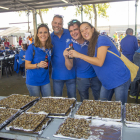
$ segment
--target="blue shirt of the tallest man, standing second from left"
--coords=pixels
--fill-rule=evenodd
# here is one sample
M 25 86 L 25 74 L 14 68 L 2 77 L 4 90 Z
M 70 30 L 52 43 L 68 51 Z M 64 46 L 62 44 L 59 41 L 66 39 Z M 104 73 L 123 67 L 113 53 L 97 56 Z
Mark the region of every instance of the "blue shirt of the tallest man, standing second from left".
M 63 52 L 66 49 L 66 42 L 71 39 L 70 33 L 67 29 L 63 29 L 63 34 L 59 38 L 57 35 L 51 33 L 51 40 L 53 44 L 52 51 L 52 79 L 69 80 L 75 78 L 75 68 L 68 70 L 65 66 L 65 58 Z

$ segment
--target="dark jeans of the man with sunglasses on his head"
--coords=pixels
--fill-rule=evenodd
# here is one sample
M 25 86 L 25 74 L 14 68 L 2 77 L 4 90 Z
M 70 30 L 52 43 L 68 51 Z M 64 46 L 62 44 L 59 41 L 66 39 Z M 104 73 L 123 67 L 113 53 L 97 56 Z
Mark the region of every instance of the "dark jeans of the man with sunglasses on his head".
M 78 78 L 76 79 L 77 88 L 80 94 L 80 101 L 84 99 L 89 99 L 89 88 L 92 89 L 92 94 L 95 100 L 98 100 L 100 97 L 101 82 L 97 77 L 92 78 Z

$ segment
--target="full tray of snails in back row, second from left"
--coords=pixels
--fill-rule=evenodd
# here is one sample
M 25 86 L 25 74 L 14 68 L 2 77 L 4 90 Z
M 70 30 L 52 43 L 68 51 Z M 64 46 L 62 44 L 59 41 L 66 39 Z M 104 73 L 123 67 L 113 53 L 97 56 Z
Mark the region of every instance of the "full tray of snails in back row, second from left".
M 49 117 L 65 118 L 65 116 L 70 114 L 75 103 L 75 98 L 43 97 L 34 106 L 27 110 L 27 112 L 45 112 L 49 114 Z

